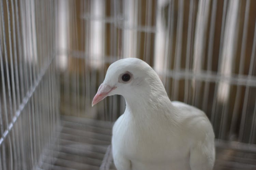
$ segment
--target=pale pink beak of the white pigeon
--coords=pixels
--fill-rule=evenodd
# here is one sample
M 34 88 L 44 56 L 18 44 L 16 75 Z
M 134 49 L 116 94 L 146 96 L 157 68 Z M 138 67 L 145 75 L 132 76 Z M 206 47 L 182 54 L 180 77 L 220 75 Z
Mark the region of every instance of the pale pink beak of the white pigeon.
M 103 100 L 105 97 L 108 96 L 108 94 L 110 93 L 110 91 L 114 90 L 116 87 L 111 87 L 107 84 L 101 84 L 96 95 L 93 98 L 93 103 L 91 104 L 92 106 L 94 106 L 95 104 L 97 104 L 98 102 L 100 102 L 101 100 Z

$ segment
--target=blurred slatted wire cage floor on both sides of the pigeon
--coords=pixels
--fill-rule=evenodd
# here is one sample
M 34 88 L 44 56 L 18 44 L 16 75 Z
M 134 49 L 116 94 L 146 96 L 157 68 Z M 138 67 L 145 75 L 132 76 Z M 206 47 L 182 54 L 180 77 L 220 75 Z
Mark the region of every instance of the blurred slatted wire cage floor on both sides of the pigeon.
M 111 143 L 111 122 L 76 117 L 61 117 L 56 144 L 44 154 L 39 169 L 98 170 Z M 216 146 L 214 170 L 255 170 L 256 150 L 229 145 Z M 50 156 L 51 155 L 51 156 Z M 114 165 L 110 170 L 114 170 Z

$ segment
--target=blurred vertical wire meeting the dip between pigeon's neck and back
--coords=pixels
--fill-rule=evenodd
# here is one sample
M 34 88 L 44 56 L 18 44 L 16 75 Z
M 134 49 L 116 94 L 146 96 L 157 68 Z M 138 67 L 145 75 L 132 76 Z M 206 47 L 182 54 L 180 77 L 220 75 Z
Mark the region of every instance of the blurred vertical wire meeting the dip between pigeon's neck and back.
M 174 72 L 179 72 L 181 69 L 181 57 L 182 57 L 182 38 L 183 38 L 183 14 L 184 14 L 184 1 L 180 0 L 178 4 L 178 18 L 177 18 L 177 37 L 175 46 L 174 57 Z M 172 83 L 172 97 L 174 100 L 178 99 L 179 92 L 179 79 L 174 78 Z

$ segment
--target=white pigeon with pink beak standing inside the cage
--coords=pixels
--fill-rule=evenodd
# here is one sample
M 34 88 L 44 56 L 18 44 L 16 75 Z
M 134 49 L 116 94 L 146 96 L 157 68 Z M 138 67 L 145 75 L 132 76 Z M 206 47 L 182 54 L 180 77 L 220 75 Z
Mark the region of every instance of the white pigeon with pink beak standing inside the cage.
M 126 109 L 113 126 L 117 170 L 211 170 L 214 132 L 203 111 L 171 102 L 156 72 L 138 58 L 111 64 L 92 105 L 122 95 Z

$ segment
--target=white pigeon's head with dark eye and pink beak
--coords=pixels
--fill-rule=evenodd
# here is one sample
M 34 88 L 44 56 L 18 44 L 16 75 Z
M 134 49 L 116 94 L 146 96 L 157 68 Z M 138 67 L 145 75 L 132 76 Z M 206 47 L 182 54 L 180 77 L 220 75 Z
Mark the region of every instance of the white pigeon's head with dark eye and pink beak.
M 112 95 L 122 95 L 125 99 L 139 96 L 156 84 L 162 86 L 158 75 L 147 63 L 138 58 L 121 59 L 109 66 L 92 105 Z

